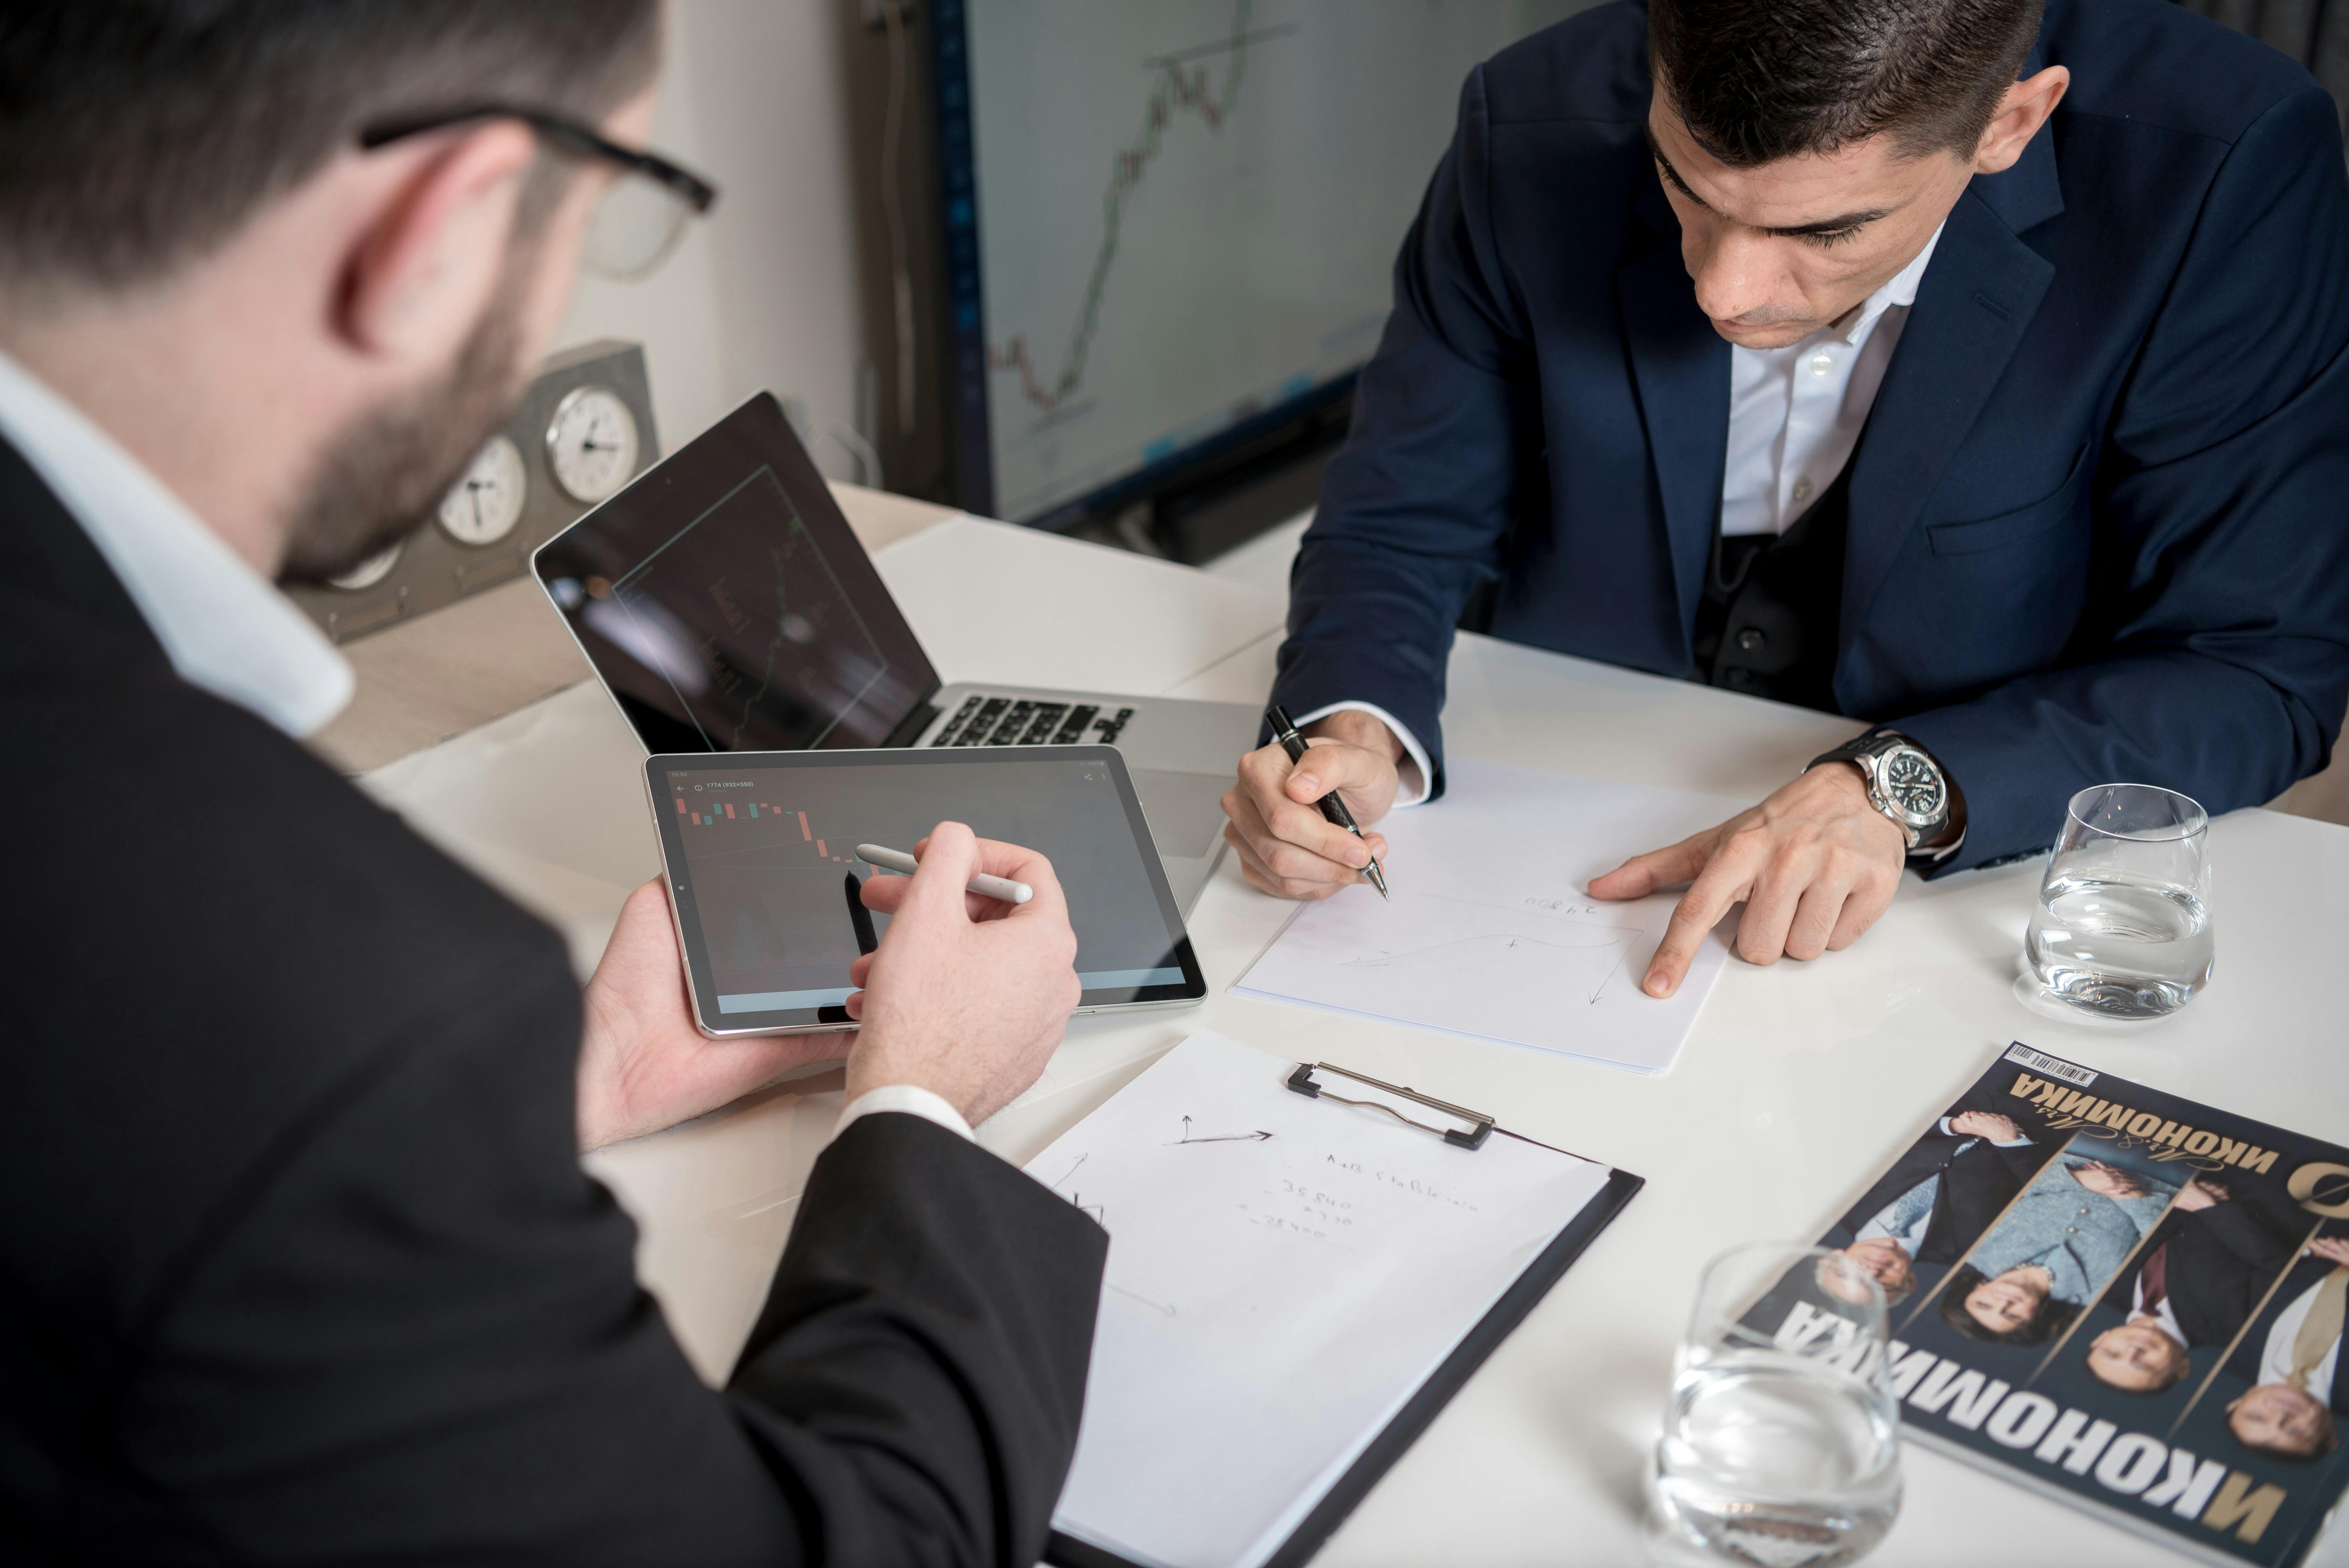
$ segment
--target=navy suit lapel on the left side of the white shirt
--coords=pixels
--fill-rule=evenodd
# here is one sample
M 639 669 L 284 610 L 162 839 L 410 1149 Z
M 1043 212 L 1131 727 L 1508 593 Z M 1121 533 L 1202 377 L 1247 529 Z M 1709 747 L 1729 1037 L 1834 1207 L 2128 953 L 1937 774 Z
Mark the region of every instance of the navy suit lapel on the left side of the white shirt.
M 1672 547 L 1672 587 L 1680 594 L 1682 624 L 1675 653 L 1687 660 L 1687 627 L 1696 620 L 1722 509 L 1722 462 L 1729 453 L 1729 343 L 1696 307 L 1696 289 L 1680 261 L 1680 223 L 1654 176 L 1640 197 L 1640 209 L 1661 244 L 1616 272 L 1616 298 Z M 1649 209 L 1661 211 L 1663 221 L 1656 223 Z

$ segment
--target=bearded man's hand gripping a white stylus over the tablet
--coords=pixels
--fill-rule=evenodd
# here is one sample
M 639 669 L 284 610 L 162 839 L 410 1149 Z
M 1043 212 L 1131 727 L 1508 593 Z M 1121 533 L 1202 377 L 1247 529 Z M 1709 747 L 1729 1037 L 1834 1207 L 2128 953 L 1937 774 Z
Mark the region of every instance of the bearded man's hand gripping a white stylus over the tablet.
M 1076 1009 L 1076 932 L 1052 861 L 940 822 L 914 876 L 864 883 L 890 915 L 881 948 L 848 969 L 848 1099 L 883 1084 L 930 1089 L 977 1127 L 1036 1082 Z M 975 871 L 1027 883 L 1003 904 L 965 892 Z

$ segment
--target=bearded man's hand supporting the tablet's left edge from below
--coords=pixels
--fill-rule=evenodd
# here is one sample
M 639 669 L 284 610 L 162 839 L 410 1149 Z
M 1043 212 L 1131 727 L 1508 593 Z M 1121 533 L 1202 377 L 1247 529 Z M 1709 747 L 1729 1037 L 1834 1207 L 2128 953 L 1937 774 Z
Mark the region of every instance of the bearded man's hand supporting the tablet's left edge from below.
M 627 894 L 587 981 L 580 1038 L 580 1148 L 601 1148 L 728 1106 L 810 1061 L 848 1054 L 846 1033 L 709 1040 L 693 1028 L 669 894 Z

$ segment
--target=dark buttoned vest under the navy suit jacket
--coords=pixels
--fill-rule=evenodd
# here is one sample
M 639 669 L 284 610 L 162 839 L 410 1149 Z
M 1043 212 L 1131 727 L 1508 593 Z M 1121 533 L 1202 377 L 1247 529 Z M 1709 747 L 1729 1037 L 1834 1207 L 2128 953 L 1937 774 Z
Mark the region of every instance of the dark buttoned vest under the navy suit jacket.
M 1853 453 L 1858 458 L 1858 453 Z M 1691 678 L 1823 714 L 1835 704 L 1851 462 L 1781 535 L 1712 535 Z

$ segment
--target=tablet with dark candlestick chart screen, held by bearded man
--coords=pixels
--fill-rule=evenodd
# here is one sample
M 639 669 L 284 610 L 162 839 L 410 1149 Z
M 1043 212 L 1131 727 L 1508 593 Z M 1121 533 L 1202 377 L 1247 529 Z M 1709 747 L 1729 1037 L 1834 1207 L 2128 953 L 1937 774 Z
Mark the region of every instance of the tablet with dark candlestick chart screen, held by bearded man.
M 1078 1012 L 1207 995 L 1113 746 L 695 751 L 646 758 L 644 784 L 705 1035 L 846 1026 L 848 965 L 888 927 L 857 899 L 857 845 L 911 850 L 940 822 L 1052 861 Z

